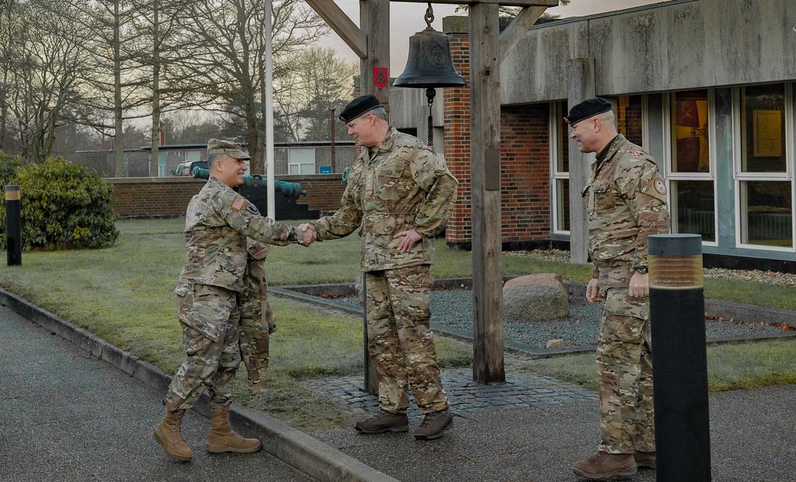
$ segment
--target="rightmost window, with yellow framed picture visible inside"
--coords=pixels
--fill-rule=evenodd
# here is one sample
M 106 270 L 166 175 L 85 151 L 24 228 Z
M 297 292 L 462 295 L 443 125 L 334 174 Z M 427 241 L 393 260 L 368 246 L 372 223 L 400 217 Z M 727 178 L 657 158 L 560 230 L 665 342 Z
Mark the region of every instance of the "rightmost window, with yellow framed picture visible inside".
M 794 247 L 792 89 L 770 84 L 737 90 L 740 244 Z

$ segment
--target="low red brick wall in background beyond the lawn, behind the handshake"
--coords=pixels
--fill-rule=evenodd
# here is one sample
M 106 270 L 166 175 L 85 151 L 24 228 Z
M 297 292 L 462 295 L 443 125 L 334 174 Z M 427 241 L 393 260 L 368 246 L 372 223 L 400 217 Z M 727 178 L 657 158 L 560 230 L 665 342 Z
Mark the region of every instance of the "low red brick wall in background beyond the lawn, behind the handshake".
M 299 204 L 325 212 L 337 211 L 345 185 L 340 174 L 279 176 L 280 181 L 298 182 L 307 195 Z M 191 197 L 204 181 L 191 177 L 117 177 L 105 180 L 113 185 L 117 198 L 114 211 L 127 217 L 182 216 Z

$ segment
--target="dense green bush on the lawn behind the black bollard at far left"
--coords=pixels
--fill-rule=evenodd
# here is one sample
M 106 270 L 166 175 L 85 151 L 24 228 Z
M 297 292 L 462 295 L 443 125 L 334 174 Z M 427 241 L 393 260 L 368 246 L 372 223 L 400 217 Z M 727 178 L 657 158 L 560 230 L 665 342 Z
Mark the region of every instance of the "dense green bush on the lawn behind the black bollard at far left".
M 22 196 L 22 247 L 63 250 L 107 247 L 119 238 L 113 189 L 82 165 L 52 157 L 16 169 Z M 0 245 L 5 246 L 5 210 Z

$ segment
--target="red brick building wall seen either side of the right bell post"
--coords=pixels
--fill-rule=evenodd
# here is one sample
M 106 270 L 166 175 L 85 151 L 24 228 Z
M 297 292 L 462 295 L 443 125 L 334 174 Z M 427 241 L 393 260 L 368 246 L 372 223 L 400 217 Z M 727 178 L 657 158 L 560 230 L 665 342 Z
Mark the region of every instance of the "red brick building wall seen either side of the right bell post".
M 469 37 L 451 33 L 451 59 L 470 81 Z M 448 243 L 470 243 L 470 91 L 446 88 L 445 157 L 459 181 L 447 224 Z M 501 108 L 501 211 L 503 241 L 536 241 L 550 235 L 548 104 Z

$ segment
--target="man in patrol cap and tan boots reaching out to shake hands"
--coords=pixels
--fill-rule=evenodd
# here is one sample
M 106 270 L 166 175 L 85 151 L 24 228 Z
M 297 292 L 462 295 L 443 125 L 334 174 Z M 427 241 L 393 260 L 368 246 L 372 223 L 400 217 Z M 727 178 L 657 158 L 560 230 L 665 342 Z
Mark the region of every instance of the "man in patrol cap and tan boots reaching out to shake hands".
M 179 461 L 193 456 L 181 435 L 181 421 L 209 389 L 211 453 L 256 452 L 256 438 L 229 426 L 230 390 L 240 364 L 240 298 L 247 286 L 247 239 L 284 246 L 303 243 L 305 233 L 260 216 L 256 206 L 232 188 L 243 184 L 249 158 L 235 142 L 210 139 L 210 177 L 185 212 L 185 265 L 174 293 L 185 344 L 185 363 L 169 386 L 166 415 L 155 439 Z M 259 251 L 255 249 L 254 251 Z

